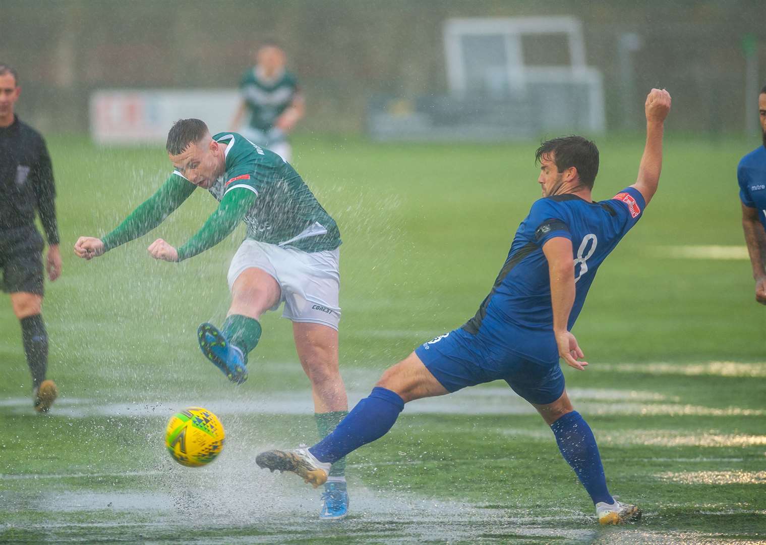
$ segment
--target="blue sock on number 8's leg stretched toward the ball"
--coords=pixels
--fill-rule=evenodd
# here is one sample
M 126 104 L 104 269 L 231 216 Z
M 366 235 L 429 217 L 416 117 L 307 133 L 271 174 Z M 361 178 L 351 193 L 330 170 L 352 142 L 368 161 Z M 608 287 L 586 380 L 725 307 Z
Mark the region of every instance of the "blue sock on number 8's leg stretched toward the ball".
M 356 404 L 330 435 L 309 448 L 309 451 L 319 461 L 338 461 L 349 452 L 388 433 L 401 409 L 404 409 L 404 400 L 396 392 L 376 386 L 369 396 Z M 603 478 L 603 471 L 601 475 Z

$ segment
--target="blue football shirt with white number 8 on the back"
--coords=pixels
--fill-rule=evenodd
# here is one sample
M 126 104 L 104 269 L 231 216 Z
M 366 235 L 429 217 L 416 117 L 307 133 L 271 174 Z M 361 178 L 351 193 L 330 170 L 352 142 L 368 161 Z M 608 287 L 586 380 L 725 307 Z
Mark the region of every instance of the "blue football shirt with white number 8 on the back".
M 644 206 L 643 196 L 632 187 L 600 202 L 571 194 L 536 201 L 516 231 L 492 291 L 463 330 L 493 357 L 502 359 L 509 353 L 542 365 L 558 364 L 548 260 L 542 246 L 555 237 L 572 241 L 576 295 L 569 314 L 571 330 L 596 271 L 636 225 Z

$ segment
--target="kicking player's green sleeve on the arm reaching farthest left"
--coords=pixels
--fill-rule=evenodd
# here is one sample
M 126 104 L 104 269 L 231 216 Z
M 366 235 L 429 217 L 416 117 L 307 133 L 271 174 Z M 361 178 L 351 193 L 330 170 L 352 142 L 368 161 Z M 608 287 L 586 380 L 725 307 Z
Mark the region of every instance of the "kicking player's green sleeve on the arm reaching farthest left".
M 146 235 L 188 199 L 197 186 L 175 172 L 154 195 L 142 202 L 125 220 L 101 238 L 104 251 Z

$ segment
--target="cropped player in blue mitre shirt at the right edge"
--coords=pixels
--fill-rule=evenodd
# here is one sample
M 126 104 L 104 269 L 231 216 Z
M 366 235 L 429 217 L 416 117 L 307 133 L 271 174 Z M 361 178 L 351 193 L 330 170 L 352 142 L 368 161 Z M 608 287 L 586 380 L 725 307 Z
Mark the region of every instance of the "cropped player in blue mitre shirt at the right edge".
M 766 85 L 758 95 L 763 145 L 742 157 L 737 166 L 742 229 L 755 278 L 755 300 L 766 304 Z

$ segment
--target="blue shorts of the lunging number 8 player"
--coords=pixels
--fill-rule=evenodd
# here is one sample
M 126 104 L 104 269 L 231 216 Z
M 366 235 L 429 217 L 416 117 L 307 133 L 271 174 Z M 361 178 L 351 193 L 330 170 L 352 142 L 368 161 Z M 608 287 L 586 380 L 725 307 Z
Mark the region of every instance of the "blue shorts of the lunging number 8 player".
M 536 405 L 555 402 L 564 392 L 564 373 L 558 362 L 542 366 L 507 351 L 498 356 L 462 329 L 421 344 L 415 353 L 448 392 L 498 379 Z

